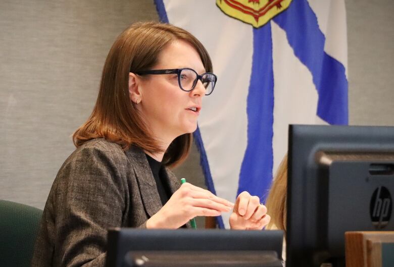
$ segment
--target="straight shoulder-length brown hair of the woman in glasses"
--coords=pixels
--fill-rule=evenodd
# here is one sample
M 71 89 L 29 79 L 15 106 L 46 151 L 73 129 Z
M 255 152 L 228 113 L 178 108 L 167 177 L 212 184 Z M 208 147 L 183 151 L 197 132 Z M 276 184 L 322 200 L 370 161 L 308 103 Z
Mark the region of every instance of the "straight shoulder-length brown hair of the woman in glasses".
M 206 71 L 212 72 L 207 50 L 189 32 L 171 24 L 132 24 L 118 36 L 108 53 L 93 111 L 73 134 L 75 146 L 103 137 L 124 150 L 135 145 L 150 152 L 163 151 L 131 104 L 128 80 L 130 72 L 152 68 L 166 45 L 179 39 L 189 42 L 199 53 Z M 190 133 L 175 138 L 164 154 L 163 164 L 175 166 L 182 162 L 191 141 Z

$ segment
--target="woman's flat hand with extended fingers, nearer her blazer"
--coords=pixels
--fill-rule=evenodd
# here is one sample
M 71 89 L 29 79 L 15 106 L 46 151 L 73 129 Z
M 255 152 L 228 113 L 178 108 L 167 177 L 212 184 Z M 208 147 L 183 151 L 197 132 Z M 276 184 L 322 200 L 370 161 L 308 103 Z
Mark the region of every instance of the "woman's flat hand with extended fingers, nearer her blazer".
M 196 216 L 219 216 L 228 212 L 233 203 L 210 191 L 184 183 L 167 203 L 149 220 L 146 228 L 176 229 Z

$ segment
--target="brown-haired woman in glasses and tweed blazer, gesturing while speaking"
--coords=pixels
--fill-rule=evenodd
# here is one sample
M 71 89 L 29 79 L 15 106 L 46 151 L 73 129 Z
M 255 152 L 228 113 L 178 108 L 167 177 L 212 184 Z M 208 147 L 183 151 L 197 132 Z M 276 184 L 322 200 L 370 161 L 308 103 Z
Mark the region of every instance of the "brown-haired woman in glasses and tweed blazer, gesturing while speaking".
M 48 196 L 32 266 L 104 266 L 110 227 L 176 229 L 233 208 L 231 228 L 262 229 L 269 217 L 258 197 L 243 192 L 233 205 L 180 185 L 169 169 L 186 157 L 215 83 L 206 49 L 187 31 L 158 23 L 126 29 Z

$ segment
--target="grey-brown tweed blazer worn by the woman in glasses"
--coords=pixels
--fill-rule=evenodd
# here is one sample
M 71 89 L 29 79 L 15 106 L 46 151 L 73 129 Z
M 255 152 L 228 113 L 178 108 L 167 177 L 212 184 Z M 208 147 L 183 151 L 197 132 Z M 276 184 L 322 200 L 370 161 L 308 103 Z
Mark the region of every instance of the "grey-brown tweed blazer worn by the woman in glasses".
M 171 193 L 179 187 L 165 168 Z M 107 229 L 146 227 L 162 207 L 145 153 L 97 138 L 65 161 L 45 204 L 33 267 L 105 266 Z M 189 225 L 188 225 L 189 226 Z

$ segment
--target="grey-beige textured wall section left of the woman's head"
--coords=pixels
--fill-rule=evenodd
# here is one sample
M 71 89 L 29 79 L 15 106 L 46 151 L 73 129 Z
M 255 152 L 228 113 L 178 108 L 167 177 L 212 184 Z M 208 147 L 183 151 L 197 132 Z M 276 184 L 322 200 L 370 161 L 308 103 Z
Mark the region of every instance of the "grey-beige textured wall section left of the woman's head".
M 0 199 L 43 208 L 116 36 L 153 1 L 0 1 Z

